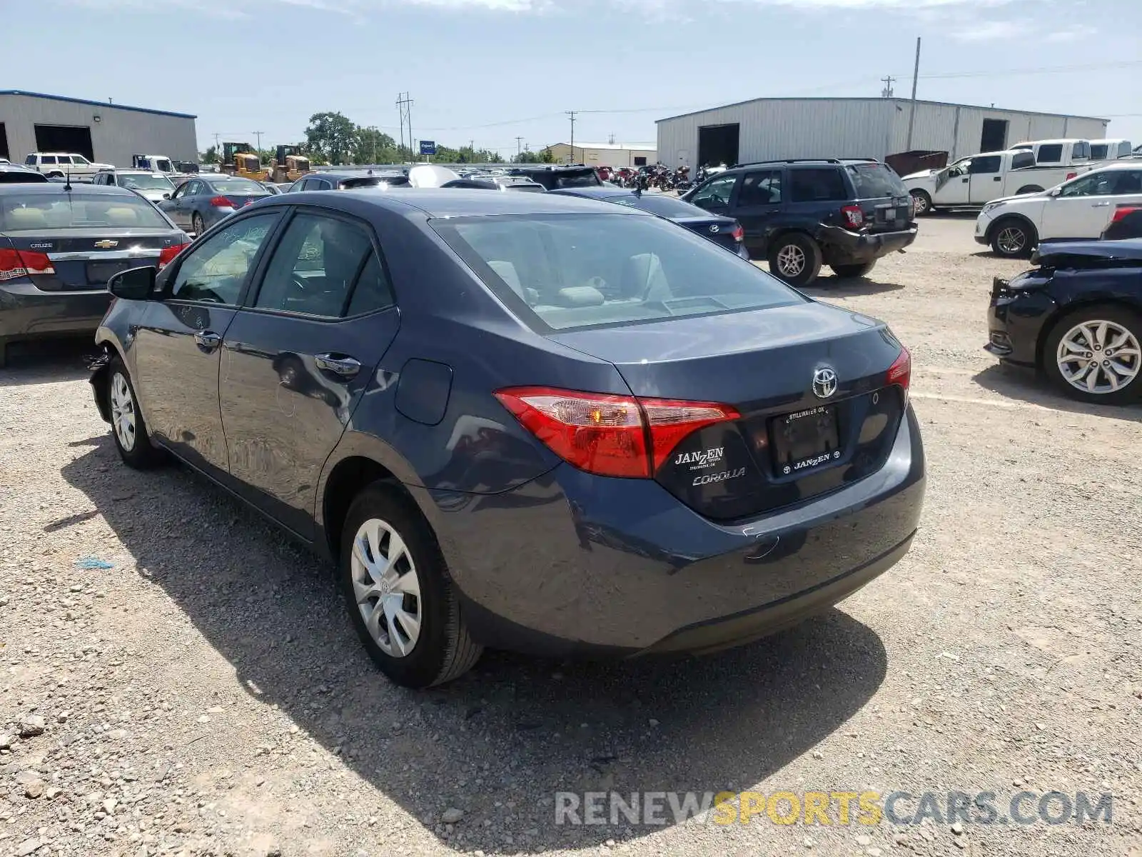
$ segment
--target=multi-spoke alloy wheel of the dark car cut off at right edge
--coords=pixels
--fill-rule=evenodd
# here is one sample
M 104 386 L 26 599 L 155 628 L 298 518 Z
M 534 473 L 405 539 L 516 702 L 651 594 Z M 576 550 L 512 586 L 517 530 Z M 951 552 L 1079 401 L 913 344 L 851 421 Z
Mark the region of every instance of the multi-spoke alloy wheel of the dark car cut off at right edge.
M 1081 321 L 1059 341 L 1059 373 L 1084 393 L 1115 393 L 1132 383 L 1142 365 L 1137 337 L 1113 321 Z

